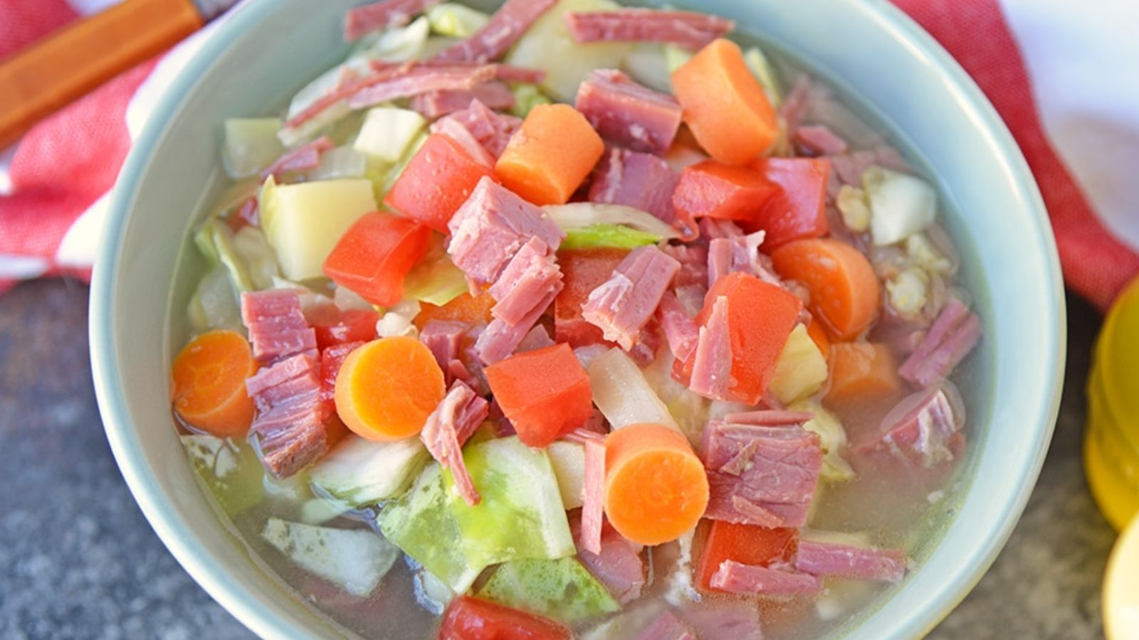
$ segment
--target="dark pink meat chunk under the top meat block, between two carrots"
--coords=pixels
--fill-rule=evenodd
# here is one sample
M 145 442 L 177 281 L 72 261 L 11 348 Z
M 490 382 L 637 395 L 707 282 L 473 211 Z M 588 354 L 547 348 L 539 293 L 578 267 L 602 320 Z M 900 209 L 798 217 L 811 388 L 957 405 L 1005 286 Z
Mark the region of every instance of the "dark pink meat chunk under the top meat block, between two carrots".
M 693 239 L 696 222 L 678 219 L 672 206 L 672 191 L 679 181 L 680 174 L 659 157 L 614 147 L 593 172 L 589 200 L 647 211 L 671 224 L 682 238 Z

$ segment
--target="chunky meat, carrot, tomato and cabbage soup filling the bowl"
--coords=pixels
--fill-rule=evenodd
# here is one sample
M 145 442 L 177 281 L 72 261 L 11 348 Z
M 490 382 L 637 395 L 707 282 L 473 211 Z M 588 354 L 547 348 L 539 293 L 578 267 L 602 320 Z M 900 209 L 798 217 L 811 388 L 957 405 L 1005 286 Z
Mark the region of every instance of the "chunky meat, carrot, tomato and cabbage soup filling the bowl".
M 912 571 L 978 402 L 960 259 L 886 137 L 732 27 L 388 0 L 224 123 L 173 412 L 297 606 L 804 638 Z

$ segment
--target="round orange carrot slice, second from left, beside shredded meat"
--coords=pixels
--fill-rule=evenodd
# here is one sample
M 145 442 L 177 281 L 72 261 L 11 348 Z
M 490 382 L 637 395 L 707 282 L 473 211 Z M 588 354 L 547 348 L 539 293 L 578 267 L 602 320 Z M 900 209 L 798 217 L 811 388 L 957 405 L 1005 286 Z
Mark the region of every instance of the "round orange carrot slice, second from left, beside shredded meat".
M 402 440 L 424 428 L 444 391 L 443 370 L 423 343 L 380 338 L 344 359 L 336 376 L 336 412 L 360 437 Z

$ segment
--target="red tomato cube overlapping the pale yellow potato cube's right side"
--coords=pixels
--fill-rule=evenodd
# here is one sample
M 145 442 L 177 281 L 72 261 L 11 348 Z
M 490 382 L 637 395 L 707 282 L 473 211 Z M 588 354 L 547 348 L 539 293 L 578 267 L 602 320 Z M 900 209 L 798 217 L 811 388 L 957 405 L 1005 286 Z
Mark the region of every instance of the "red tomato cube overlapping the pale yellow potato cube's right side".
M 431 229 L 390 213 L 360 216 L 325 260 L 325 274 L 366 301 L 390 306 L 403 297 L 403 278 L 427 251 Z

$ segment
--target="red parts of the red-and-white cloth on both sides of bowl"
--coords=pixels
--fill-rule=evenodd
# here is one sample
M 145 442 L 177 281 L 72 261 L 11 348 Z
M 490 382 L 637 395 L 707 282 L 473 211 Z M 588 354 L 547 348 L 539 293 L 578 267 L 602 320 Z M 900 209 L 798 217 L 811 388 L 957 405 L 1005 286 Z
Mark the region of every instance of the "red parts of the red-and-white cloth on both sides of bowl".
M 1008 123 L 1043 194 L 1068 287 L 1106 310 L 1139 273 L 1139 255 L 1105 229 L 1044 134 L 997 0 L 894 2 L 957 58 Z M 0 60 L 76 17 L 63 0 L 0 0 Z M 5 151 L 10 183 L 0 180 L 7 194 L 0 195 L 0 290 L 21 278 L 90 276 L 100 198 L 130 148 L 128 104 L 153 69 L 148 63 L 124 73 Z

